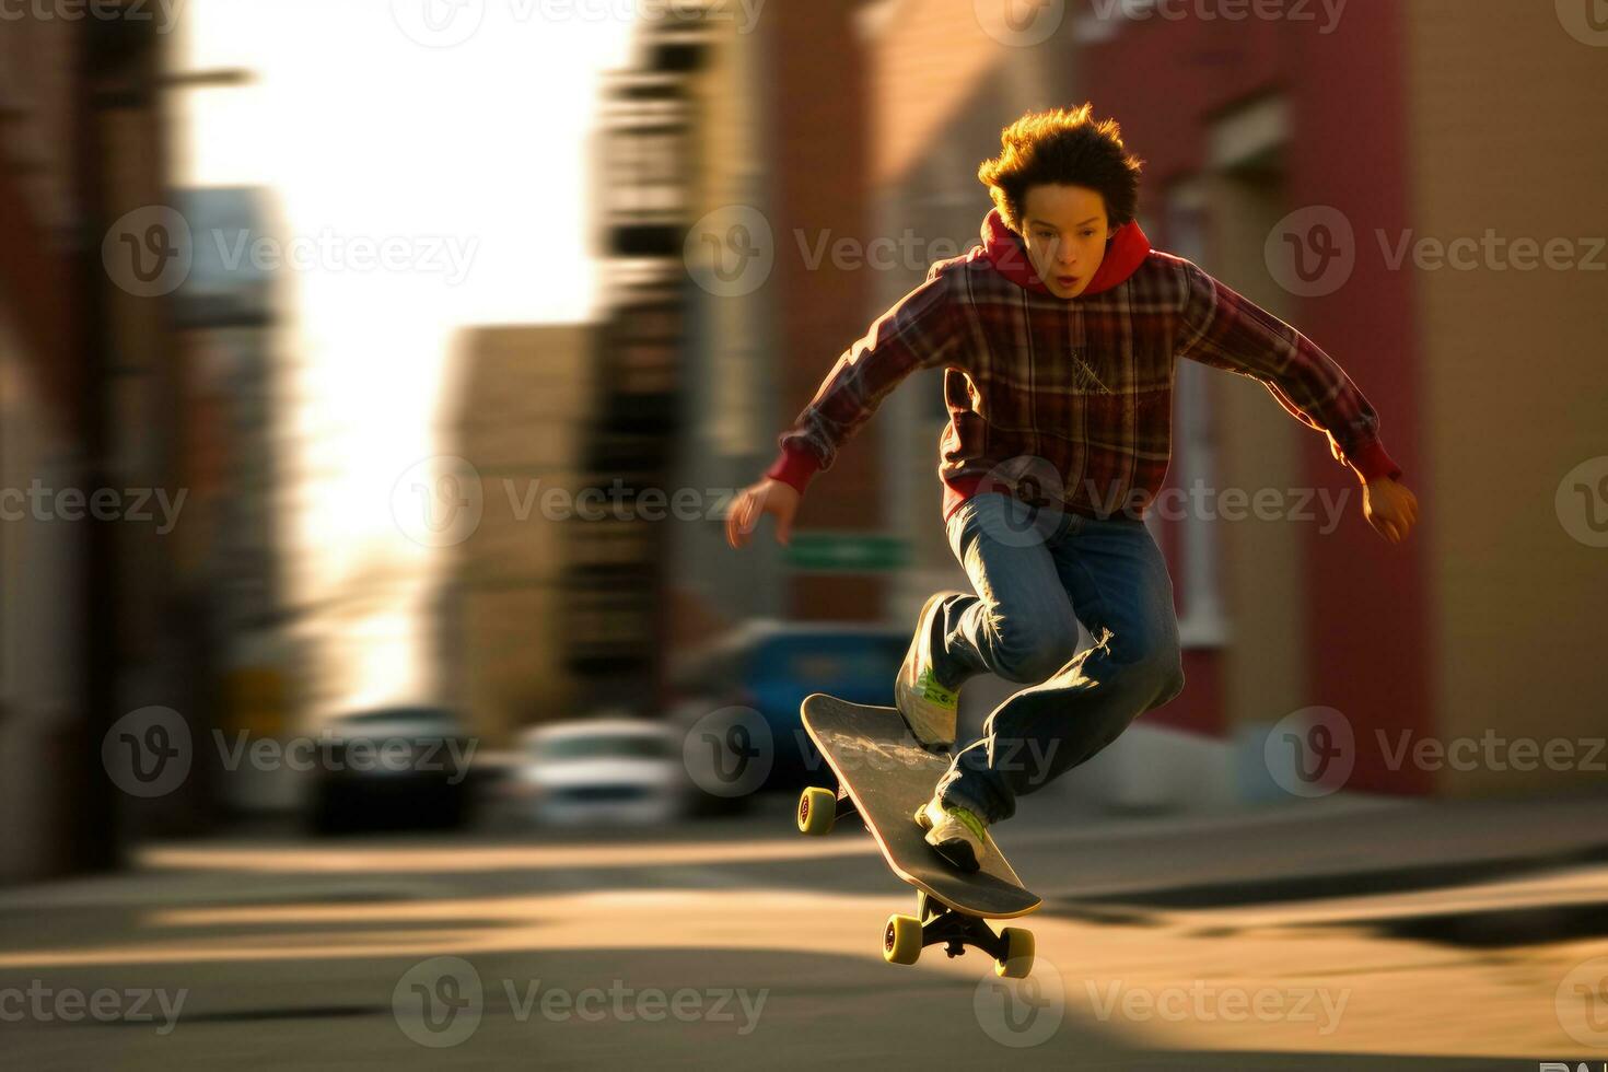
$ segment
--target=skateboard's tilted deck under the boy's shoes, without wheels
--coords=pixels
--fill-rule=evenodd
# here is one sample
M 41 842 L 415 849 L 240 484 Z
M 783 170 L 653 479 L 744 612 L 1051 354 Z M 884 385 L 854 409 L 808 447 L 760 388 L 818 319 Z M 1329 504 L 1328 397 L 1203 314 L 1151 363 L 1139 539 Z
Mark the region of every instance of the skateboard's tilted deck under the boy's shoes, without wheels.
M 933 797 L 949 759 L 923 749 L 896 709 L 814 693 L 804 699 L 802 718 L 838 775 L 838 796 L 852 802 L 894 874 L 968 916 L 1010 919 L 1039 908 L 1040 898 L 1023 887 L 992 837 L 971 874 L 952 868 L 926 844 L 915 813 Z

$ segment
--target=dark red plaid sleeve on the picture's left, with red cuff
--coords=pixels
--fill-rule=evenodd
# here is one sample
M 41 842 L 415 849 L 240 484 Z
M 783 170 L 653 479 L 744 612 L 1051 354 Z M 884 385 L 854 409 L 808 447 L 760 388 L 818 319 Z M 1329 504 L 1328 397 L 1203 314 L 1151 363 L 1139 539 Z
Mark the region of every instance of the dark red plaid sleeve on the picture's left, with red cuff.
M 781 455 L 765 476 L 802 492 L 817 469 L 831 468 L 838 450 L 905 376 L 949 363 L 962 339 L 952 289 L 942 265 L 933 265 L 921 286 L 878 317 L 778 437 Z

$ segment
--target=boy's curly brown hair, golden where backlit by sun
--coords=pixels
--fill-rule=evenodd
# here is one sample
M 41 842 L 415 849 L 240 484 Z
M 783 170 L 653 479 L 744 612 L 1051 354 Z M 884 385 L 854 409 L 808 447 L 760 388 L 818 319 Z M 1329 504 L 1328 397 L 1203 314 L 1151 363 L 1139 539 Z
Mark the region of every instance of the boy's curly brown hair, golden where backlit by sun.
M 1106 220 L 1121 227 L 1138 211 L 1138 172 L 1145 162 L 1122 146 L 1116 119 L 1093 119 L 1093 104 L 1031 111 L 1000 132 L 1000 154 L 982 161 L 978 178 L 1005 227 L 1021 233 L 1028 190 L 1042 183 L 1087 186 L 1100 193 Z

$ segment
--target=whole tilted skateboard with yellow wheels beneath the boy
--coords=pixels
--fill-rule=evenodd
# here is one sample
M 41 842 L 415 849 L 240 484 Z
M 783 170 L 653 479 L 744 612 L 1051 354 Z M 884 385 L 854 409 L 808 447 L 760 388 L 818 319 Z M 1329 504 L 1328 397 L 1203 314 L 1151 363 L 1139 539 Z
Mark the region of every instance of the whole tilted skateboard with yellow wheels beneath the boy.
M 801 707 L 804 730 L 838 776 L 836 789 L 799 794 L 799 833 L 825 836 L 839 818 L 857 815 L 883 850 L 888 866 L 915 887 L 915 914 L 894 914 L 883 932 L 883 959 L 913 964 L 928 945 L 960 956 L 973 945 L 994 958 L 999 976 L 1019 979 L 1032 969 L 1032 932 L 987 919 L 1013 919 L 1042 900 L 1016 878 L 1005 855 L 986 839 L 976 873 L 957 871 L 926 844 L 917 810 L 933 796 L 949 755 L 928 752 L 892 707 L 868 707 L 812 693 Z

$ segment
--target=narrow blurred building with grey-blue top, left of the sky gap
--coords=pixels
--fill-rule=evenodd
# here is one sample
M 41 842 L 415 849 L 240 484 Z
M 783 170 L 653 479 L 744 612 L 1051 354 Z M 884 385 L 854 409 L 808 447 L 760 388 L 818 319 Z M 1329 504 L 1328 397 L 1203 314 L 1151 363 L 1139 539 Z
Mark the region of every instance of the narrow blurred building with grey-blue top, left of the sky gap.
M 187 673 L 206 698 L 196 722 L 233 739 L 293 725 L 293 641 L 285 591 L 286 384 L 272 249 L 281 228 L 267 190 L 180 190 L 191 264 L 174 294 L 180 347 L 178 473 L 185 524 L 174 532 Z M 212 752 L 203 752 L 211 755 Z M 283 807 L 291 779 L 249 763 L 212 771 L 236 807 Z

